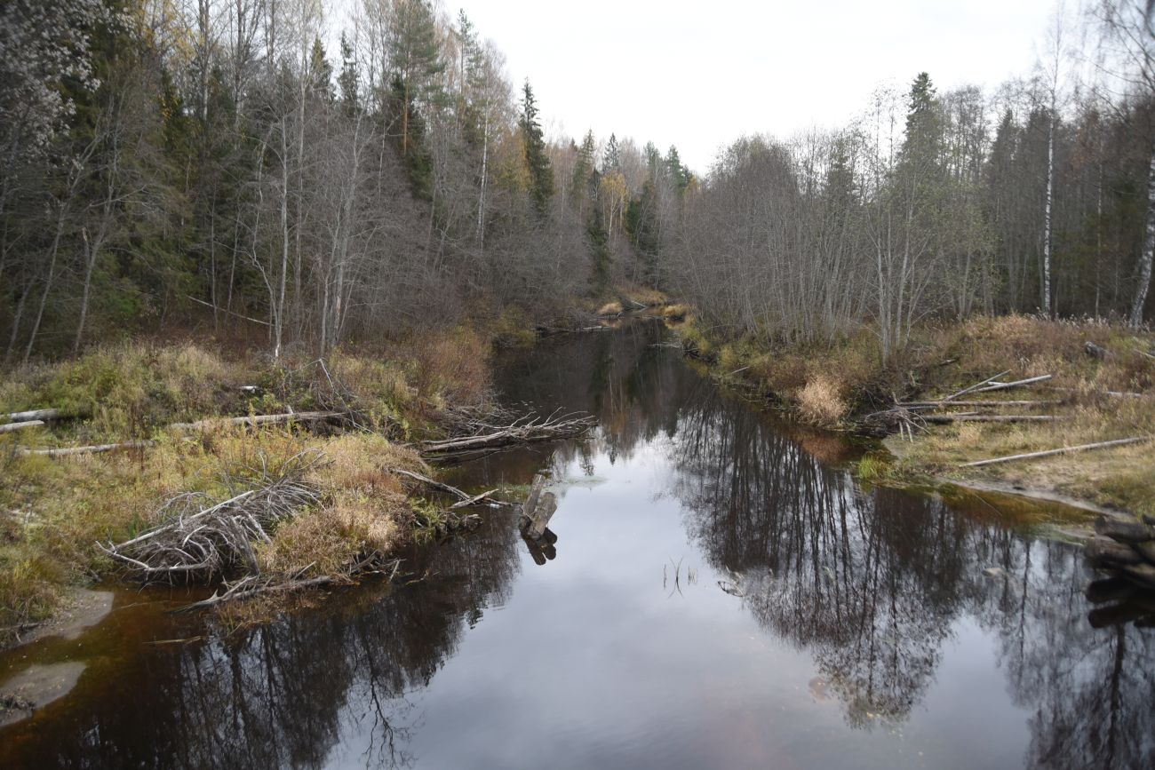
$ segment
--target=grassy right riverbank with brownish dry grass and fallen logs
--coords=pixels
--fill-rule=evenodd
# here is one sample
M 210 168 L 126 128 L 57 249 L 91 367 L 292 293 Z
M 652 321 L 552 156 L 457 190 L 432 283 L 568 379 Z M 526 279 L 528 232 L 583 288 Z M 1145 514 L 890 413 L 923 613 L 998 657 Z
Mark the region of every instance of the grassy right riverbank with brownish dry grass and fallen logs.
M 962 468 L 964 463 L 1155 434 L 1155 335 L 1101 322 L 1011 315 L 926 326 L 884 361 L 869 332 L 821 345 L 735 339 L 691 316 L 683 343 L 720 377 L 772 397 L 798 419 L 859 429 L 864 417 L 896 401 L 933 401 L 1009 371 L 1006 380 L 1051 375 L 1020 389 L 967 401 L 1031 401 L 940 413 L 1045 414 L 1053 421 L 925 425 L 912 441 L 887 440 L 862 472 L 895 481 L 952 479 L 1060 494 L 1098 506 L 1155 513 L 1155 442 L 1038 459 Z M 1087 343 L 1105 350 L 1088 352 Z M 1126 394 L 1126 395 L 1111 395 Z

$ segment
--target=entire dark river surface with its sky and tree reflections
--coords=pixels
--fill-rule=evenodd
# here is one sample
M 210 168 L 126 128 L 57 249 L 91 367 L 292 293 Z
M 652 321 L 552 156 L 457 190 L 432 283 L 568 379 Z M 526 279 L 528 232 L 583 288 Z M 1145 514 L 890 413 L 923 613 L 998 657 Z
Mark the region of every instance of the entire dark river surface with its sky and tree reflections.
M 1155 767 L 1155 630 L 1091 626 L 1078 548 L 1006 501 L 857 487 L 842 440 L 660 339 L 501 365 L 509 401 L 599 419 L 457 472 L 547 469 L 547 553 L 490 513 L 408 554 L 424 580 L 230 635 L 121 591 L 80 638 L 0 656 L 0 680 L 84 666 L 0 728 L 0 767 Z

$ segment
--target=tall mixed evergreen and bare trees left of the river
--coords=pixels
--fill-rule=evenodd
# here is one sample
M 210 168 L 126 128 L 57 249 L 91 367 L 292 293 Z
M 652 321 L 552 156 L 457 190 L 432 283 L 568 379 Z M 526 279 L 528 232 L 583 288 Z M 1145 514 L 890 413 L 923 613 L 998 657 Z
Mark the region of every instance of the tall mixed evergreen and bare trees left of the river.
M 325 351 L 657 279 L 676 150 L 547 142 L 464 12 L 360 0 L 334 53 L 322 10 L 5 3 L 6 361 L 206 313 Z

